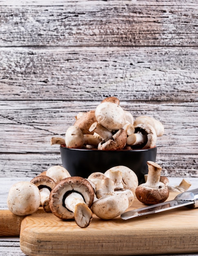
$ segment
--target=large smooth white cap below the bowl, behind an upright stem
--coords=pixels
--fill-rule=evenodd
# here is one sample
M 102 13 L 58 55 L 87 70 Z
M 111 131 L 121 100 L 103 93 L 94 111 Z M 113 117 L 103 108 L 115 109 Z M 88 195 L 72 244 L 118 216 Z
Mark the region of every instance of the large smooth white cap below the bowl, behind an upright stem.
M 127 166 L 114 166 L 108 169 L 104 174 L 110 177 L 110 170 L 122 172 L 122 184 L 124 189 L 130 189 L 135 195 L 136 188 L 138 187 L 138 177 L 136 173 Z

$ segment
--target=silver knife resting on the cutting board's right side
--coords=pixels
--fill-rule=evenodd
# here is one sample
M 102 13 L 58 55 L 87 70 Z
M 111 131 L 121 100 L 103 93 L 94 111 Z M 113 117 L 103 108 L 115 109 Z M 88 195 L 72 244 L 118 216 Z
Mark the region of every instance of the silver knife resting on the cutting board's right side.
M 134 209 L 131 211 L 126 211 L 121 214 L 123 220 L 128 220 L 134 217 L 147 215 L 151 213 L 158 213 L 161 211 L 167 211 L 170 209 L 175 209 L 178 207 L 186 206 L 189 208 L 198 207 L 198 188 L 185 191 L 177 195 L 174 200 L 166 201 L 159 204 L 149 205 L 147 207 L 142 207 L 139 209 Z

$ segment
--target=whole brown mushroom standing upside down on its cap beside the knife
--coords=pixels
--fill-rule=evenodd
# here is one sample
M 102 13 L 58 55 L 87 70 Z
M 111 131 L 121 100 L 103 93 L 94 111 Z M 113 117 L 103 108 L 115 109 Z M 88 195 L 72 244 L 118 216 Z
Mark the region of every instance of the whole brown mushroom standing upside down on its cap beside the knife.
M 140 202 L 147 205 L 164 202 L 169 196 L 169 189 L 160 182 L 162 167 L 152 161 L 147 161 L 147 165 L 149 169 L 147 182 L 136 188 L 136 197 Z

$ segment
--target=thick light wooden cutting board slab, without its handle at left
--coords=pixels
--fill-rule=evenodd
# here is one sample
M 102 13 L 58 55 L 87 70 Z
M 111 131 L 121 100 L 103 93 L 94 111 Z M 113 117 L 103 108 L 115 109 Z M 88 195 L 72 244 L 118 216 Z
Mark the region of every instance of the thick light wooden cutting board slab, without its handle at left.
M 169 200 L 176 196 L 170 193 Z M 130 209 L 143 207 L 137 199 Z M 28 256 L 145 255 L 198 252 L 198 209 L 182 207 L 131 220 L 93 216 L 89 227 L 39 209 L 22 220 L 20 247 Z

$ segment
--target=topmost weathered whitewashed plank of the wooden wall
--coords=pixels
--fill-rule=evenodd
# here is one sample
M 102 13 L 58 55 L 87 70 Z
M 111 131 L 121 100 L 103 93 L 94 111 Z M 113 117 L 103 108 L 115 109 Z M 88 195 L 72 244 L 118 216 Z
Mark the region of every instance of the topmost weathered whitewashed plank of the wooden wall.
M 0 46 L 198 44 L 191 1 L 1 1 Z

